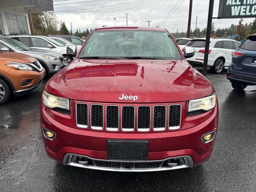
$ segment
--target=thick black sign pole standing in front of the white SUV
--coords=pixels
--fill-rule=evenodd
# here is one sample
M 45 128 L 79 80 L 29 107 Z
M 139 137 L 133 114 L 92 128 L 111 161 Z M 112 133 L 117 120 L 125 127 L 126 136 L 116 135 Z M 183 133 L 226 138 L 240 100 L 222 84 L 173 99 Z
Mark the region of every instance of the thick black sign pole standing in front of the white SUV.
M 209 46 L 212 30 L 212 13 L 213 13 L 214 0 L 210 0 L 209 3 L 209 12 L 208 12 L 208 21 L 207 21 L 207 31 L 206 31 L 206 41 L 205 41 L 205 53 L 204 53 L 204 66 L 203 66 L 203 75 L 207 74 L 207 64 L 209 56 Z

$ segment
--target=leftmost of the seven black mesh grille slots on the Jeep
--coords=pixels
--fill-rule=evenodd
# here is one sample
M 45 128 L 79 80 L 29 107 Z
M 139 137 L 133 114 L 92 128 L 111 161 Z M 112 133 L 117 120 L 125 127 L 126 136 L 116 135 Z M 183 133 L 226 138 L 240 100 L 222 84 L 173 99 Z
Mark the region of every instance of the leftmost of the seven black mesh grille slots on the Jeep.
M 76 124 L 79 127 L 88 127 L 88 104 L 76 104 Z

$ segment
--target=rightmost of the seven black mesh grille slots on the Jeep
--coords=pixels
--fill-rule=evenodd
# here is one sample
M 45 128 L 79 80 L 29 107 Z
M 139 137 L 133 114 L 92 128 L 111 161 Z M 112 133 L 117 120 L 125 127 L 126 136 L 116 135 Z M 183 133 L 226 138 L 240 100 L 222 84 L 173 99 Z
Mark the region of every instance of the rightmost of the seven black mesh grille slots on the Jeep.
M 180 105 L 169 106 L 169 128 L 180 127 Z

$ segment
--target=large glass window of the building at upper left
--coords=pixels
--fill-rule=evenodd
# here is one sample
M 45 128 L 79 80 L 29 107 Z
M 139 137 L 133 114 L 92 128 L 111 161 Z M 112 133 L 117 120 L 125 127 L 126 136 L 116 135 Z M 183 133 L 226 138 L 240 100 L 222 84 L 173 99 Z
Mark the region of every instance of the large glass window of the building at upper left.
M 26 16 L 5 13 L 9 34 L 28 34 Z

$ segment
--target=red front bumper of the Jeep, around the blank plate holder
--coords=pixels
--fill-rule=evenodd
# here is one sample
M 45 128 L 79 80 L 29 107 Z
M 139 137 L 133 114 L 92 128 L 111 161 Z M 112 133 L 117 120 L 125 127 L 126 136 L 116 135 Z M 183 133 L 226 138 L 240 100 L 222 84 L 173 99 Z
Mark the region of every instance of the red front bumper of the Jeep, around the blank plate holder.
M 43 136 L 46 152 L 50 158 L 66 165 L 79 166 L 91 169 L 114 170 L 114 171 L 157 171 L 177 168 L 187 168 L 197 166 L 206 162 L 212 153 L 212 149 L 216 137 L 207 144 L 201 140 L 201 136 L 217 130 L 218 127 L 218 106 L 213 109 L 214 112 L 208 120 L 185 130 L 177 130 L 161 133 L 114 133 L 114 132 L 95 132 L 89 130 L 80 130 L 70 128 L 60 124 L 51 118 L 45 111 L 44 105 L 41 108 L 41 127 L 56 133 L 56 138 L 51 141 Z M 43 133 L 42 133 L 43 135 Z M 188 163 L 181 166 L 169 168 L 146 168 L 141 170 L 132 170 L 131 168 L 108 168 L 97 166 L 81 166 L 80 164 L 68 161 L 70 155 L 84 156 L 91 160 L 108 162 L 107 157 L 107 141 L 108 139 L 122 140 L 148 140 L 148 161 L 165 162 L 170 158 L 184 157 L 188 159 Z M 110 161 L 116 162 L 116 161 Z M 133 161 L 126 161 L 132 162 Z

